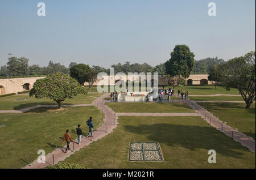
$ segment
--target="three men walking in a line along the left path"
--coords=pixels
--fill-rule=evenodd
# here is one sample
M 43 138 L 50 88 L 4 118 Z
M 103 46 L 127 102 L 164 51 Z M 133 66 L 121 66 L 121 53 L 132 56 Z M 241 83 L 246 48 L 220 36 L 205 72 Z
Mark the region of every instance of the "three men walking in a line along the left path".
M 86 135 L 86 137 L 93 137 L 93 122 L 92 122 L 92 117 L 90 117 L 87 121 L 86 121 L 87 126 L 89 127 L 89 133 L 88 135 Z M 82 139 L 82 129 L 81 129 L 81 125 L 78 125 L 76 128 L 76 134 L 78 136 L 78 144 L 81 145 L 81 139 Z M 70 150 L 69 148 L 69 144 L 70 142 L 72 142 L 72 138 L 71 135 L 69 134 L 69 130 L 66 130 L 66 133 L 64 134 L 63 137 L 63 143 L 64 140 L 67 142 L 67 148 L 65 149 L 65 153 L 67 153 L 67 150 Z

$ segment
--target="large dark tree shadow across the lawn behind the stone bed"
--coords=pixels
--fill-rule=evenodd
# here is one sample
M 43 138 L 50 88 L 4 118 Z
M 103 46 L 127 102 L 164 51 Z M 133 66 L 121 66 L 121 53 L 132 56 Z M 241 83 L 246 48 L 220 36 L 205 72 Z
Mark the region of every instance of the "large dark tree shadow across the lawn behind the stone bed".
M 180 146 L 191 151 L 214 149 L 216 153 L 226 157 L 242 158 L 243 153 L 238 151 L 247 149 L 213 127 L 170 125 L 166 123 L 124 127 L 126 131 L 146 136 L 152 142 L 173 147 Z

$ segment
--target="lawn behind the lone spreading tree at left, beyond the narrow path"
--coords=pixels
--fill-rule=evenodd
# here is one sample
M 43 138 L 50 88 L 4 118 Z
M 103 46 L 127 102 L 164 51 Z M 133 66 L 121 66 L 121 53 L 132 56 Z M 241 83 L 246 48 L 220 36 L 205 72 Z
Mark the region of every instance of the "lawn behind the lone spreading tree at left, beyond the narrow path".
M 78 95 L 74 98 L 63 101 L 63 104 L 91 104 L 96 98 L 102 96 L 102 93 L 89 93 L 88 95 Z M 48 98 L 38 100 L 34 97 L 26 95 L 14 95 L 1 97 L 0 110 L 19 110 L 35 105 L 57 105 L 57 103 Z

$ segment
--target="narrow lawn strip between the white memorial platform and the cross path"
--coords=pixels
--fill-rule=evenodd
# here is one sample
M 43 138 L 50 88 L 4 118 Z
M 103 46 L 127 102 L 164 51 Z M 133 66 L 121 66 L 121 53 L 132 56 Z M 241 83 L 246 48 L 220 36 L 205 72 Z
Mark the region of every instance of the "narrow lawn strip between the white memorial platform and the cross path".
M 116 113 L 195 113 L 182 102 L 110 102 L 106 105 Z

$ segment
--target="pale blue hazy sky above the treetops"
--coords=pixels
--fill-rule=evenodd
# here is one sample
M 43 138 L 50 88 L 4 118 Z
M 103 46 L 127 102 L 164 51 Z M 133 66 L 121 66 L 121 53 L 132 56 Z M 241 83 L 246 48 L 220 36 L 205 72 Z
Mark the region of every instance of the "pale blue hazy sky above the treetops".
M 46 16 L 38 16 L 39 2 Z M 216 16 L 208 16 L 209 2 Z M 255 50 L 255 0 L 0 0 L 0 66 L 8 53 L 40 66 L 155 66 L 177 44 L 188 45 L 196 60 Z

